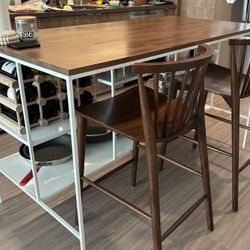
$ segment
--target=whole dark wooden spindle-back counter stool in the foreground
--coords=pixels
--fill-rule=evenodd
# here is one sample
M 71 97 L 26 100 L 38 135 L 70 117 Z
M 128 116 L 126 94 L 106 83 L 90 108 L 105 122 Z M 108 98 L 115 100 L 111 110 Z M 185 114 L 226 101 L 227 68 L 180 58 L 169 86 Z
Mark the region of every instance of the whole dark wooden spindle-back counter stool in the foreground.
M 90 104 L 78 109 L 79 114 L 79 162 L 82 169 L 82 180 L 104 192 L 111 198 L 132 209 L 152 224 L 153 249 L 162 249 L 161 242 L 166 239 L 203 201 L 206 204 L 207 225 L 213 230 L 213 215 L 210 192 L 210 179 L 206 146 L 206 131 L 204 123 L 204 106 L 197 105 L 197 101 L 204 104 L 203 78 L 213 49 L 208 45 L 200 45 L 198 55 L 178 62 L 151 62 L 136 63 L 133 70 L 138 74 L 139 86 L 133 87 L 113 98 Z M 175 74 L 184 71 L 184 78 L 177 96 L 175 89 Z M 188 88 L 187 79 L 193 72 L 191 84 Z M 158 93 L 158 77 L 162 72 L 169 72 L 168 96 Z M 154 88 L 144 85 L 143 74 L 154 75 Z M 197 99 L 198 97 L 199 100 Z M 202 98 L 203 97 L 203 98 Z M 133 140 L 135 146 L 146 152 L 148 170 L 149 196 L 151 212 L 147 213 L 132 205 L 128 201 L 101 187 L 84 176 L 85 131 L 87 120 L 96 122 L 118 134 Z M 157 153 L 158 143 L 169 143 L 179 135 L 185 134 L 192 128 L 197 128 L 201 172 L 176 162 L 165 155 Z M 144 142 L 140 144 L 140 142 Z M 136 152 L 137 150 L 134 150 Z M 134 154 L 136 155 L 136 153 Z M 158 166 L 157 157 L 171 161 L 178 167 L 202 177 L 204 194 L 196 201 L 165 233 L 161 233 Z M 137 157 L 135 157 L 137 159 Z M 132 168 L 133 178 L 136 178 L 136 169 Z M 135 184 L 135 183 L 134 183 Z M 82 187 L 81 187 L 82 188 Z M 198 190 L 197 190 L 198 191 Z

